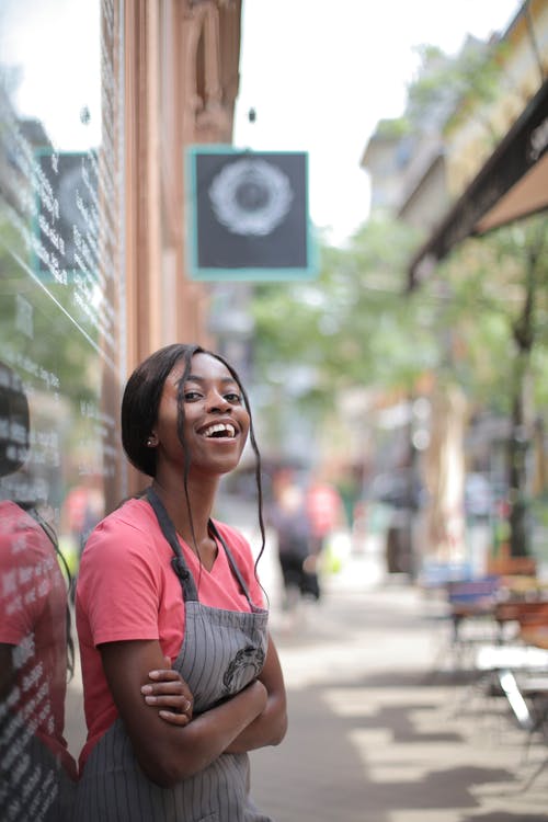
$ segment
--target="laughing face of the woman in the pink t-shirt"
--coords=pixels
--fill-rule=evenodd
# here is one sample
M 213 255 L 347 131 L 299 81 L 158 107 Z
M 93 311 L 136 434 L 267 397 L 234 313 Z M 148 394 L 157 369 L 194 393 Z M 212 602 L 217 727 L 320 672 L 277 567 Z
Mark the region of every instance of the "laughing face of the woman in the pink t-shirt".
M 248 438 L 250 418 L 238 383 L 228 368 L 209 354 L 194 354 L 184 385 L 184 362 L 178 363 L 163 386 L 152 442 L 157 468 L 162 461 L 183 466 L 184 452 L 178 436 L 179 403 L 183 403 L 184 448 L 191 456 L 191 472 L 208 475 L 231 471 L 238 465 Z

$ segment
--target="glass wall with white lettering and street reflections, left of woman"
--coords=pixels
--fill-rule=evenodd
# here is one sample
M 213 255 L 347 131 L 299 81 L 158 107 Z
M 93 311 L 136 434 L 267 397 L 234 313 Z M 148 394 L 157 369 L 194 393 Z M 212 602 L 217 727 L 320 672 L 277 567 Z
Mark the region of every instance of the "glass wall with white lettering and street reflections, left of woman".
M 2 822 L 64 819 L 83 742 L 68 581 L 124 492 L 118 16 L 0 3 Z

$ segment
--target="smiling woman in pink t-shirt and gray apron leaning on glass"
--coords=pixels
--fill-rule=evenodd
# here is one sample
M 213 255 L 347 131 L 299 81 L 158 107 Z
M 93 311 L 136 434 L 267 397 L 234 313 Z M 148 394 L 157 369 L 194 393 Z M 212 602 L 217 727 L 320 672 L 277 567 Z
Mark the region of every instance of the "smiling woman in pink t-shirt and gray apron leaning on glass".
M 249 797 L 247 752 L 285 735 L 283 676 L 250 548 L 210 518 L 248 434 L 264 547 L 259 452 L 236 372 L 175 344 L 127 383 L 122 441 L 152 483 L 100 523 L 82 555 L 79 822 L 269 820 Z

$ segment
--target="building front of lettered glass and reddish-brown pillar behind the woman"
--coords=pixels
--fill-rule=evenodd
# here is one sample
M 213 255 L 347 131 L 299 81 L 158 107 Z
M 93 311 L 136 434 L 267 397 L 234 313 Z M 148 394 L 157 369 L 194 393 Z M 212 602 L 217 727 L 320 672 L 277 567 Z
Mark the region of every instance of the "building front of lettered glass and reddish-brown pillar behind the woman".
M 185 274 L 184 159 L 231 141 L 240 19 L 241 0 L 0 3 L 1 819 L 62 819 L 58 552 L 75 574 L 144 484 L 119 445 L 126 377 L 214 343 Z

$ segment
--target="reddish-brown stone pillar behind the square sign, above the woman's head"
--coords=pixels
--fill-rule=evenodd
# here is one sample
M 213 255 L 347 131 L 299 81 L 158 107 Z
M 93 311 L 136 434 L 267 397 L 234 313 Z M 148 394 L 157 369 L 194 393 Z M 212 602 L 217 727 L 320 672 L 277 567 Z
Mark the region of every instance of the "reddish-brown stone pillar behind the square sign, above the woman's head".
M 185 276 L 184 152 L 231 142 L 241 0 L 122 3 L 128 366 L 207 339 L 208 289 Z

